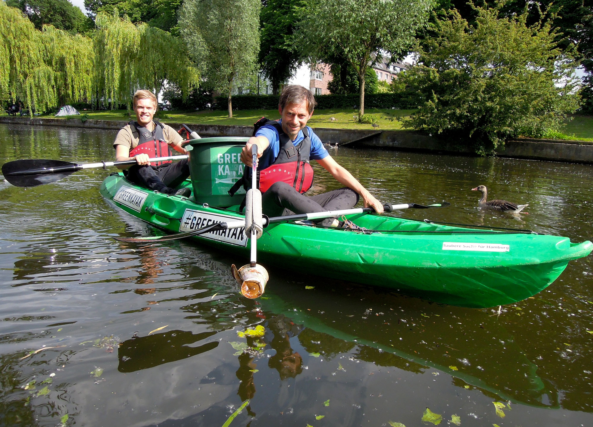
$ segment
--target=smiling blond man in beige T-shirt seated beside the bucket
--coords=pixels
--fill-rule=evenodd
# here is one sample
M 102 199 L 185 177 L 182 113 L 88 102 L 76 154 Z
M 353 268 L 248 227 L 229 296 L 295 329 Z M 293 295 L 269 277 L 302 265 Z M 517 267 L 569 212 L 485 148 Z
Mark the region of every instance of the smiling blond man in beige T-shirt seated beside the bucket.
M 146 90 L 136 91 L 133 106 L 136 121 L 130 121 L 117 133 L 113 147 L 116 161 L 136 160 L 132 166 L 119 166 L 126 169 L 126 178 L 141 187 L 160 191 L 164 194 L 189 197 L 189 188 L 176 187 L 189 176 L 187 159 L 176 163 L 151 162 L 151 158 L 171 156 L 171 148 L 187 154 L 181 147 L 183 138 L 172 127 L 154 119 L 157 112 L 157 97 Z

